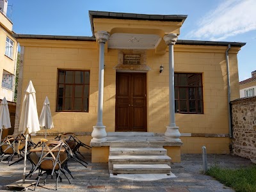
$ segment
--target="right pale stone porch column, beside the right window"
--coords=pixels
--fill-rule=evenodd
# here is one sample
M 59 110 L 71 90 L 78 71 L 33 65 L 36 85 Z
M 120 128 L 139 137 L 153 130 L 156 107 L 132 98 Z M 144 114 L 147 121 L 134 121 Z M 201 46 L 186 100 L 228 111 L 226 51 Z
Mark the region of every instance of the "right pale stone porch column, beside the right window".
M 169 46 L 169 107 L 170 107 L 170 123 L 166 127 L 164 136 L 167 140 L 180 142 L 179 127 L 175 124 L 175 95 L 174 95 L 174 60 L 173 60 L 173 45 L 177 41 L 177 34 L 169 33 L 163 37 L 166 44 Z

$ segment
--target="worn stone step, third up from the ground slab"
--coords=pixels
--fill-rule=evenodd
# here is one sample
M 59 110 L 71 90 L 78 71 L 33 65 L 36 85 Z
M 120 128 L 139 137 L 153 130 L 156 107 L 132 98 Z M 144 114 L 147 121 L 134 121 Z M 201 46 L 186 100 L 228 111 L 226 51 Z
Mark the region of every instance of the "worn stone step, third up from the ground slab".
M 165 148 L 123 148 L 123 147 L 110 147 L 109 155 L 110 156 L 166 156 L 167 150 Z

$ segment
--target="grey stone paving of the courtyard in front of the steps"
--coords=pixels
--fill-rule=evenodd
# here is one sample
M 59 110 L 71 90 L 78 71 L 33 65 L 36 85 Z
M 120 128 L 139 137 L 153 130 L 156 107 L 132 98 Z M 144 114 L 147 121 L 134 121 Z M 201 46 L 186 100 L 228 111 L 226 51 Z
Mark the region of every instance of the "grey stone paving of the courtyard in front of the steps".
M 239 168 L 241 166 L 252 165 L 248 159 L 234 157 L 230 155 L 208 155 L 209 166 L 218 164 L 227 168 Z M 90 157 L 86 157 L 90 162 Z M 30 170 L 30 163 L 28 170 Z M 22 179 L 23 162 L 8 166 L 6 163 L 0 163 L 0 191 L 21 191 L 21 188 L 6 188 L 6 184 L 11 184 Z M 71 162 L 68 166 L 74 175 L 74 179 L 67 179 L 63 176 L 63 181 L 58 184 L 58 191 L 70 191 L 72 189 L 79 191 L 157 191 L 157 192 L 208 192 L 208 191 L 234 191 L 225 187 L 212 177 L 202 173 L 202 155 L 186 154 L 182 155 L 182 163 L 172 164 L 172 173 L 176 177 L 138 181 L 109 177 L 107 163 L 89 163 L 88 168 Z M 70 175 L 68 175 L 70 177 Z M 35 179 L 35 177 L 33 177 Z M 42 183 L 41 183 L 42 184 Z M 38 186 L 36 191 L 52 191 L 55 189 L 54 182 L 47 179 L 45 186 Z M 33 186 L 28 191 L 33 190 Z

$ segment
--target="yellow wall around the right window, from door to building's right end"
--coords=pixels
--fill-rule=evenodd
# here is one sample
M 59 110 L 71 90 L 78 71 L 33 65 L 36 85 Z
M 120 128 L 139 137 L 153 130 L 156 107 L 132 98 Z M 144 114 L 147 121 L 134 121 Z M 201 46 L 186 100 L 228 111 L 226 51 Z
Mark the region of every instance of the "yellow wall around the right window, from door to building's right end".
M 176 113 L 181 133 L 228 134 L 227 47 L 175 45 L 175 72 L 199 72 L 203 75 L 204 114 Z M 231 100 L 239 98 L 237 49 L 229 53 Z M 168 54 L 157 56 L 148 51 L 148 132 L 164 132 L 169 123 Z M 159 66 L 164 70 L 159 74 Z M 196 141 L 196 143 L 195 143 Z M 211 153 L 229 153 L 229 138 L 182 137 L 182 153 L 201 153 L 202 146 Z M 216 143 L 216 148 L 214 147 Z M 219 145 L 220 144 L 220 145 Z

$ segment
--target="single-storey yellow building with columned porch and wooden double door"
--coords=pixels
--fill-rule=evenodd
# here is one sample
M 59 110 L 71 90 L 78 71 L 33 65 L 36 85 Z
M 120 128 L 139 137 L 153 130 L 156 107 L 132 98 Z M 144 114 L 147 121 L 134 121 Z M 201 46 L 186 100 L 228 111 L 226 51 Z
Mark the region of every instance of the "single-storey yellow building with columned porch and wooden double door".
M 239 98 L 244 43 L 177 40 L 187 15 L 89 15 L 92 37 L 13 35 L 22 61 L 18 111 L 31 80 L 38 114 L 46 96 L 51 102 L 47 137 L 75 132 L 92 146 L 92 162 L 108 162 L 109 146 L 125 141 L 161 145 L 173 162 L 203 145 L 229 153 L 228 100 Z

